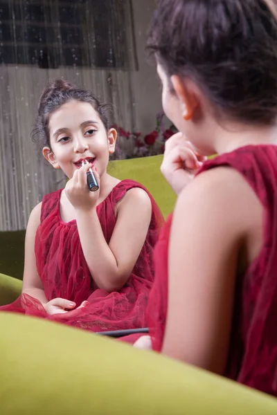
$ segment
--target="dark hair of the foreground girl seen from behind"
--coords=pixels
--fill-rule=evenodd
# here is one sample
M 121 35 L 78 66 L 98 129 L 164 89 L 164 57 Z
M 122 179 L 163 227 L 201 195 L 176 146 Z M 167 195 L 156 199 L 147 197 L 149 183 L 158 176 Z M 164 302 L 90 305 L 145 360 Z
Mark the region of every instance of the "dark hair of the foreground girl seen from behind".
M 217 113 L 273 124 L 277 19 L 271 0 L 159 0 L 148 50 L 168 77 L 190 77 Z

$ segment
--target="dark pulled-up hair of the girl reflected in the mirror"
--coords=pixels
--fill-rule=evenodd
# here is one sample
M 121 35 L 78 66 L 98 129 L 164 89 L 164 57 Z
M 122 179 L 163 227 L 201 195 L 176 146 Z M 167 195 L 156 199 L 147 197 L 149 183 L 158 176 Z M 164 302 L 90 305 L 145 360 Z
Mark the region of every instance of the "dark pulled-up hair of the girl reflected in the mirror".
M 46 88 L 39 98 L 39 107 L 36 118 L 36 128 L 32 132 L 33 141 L 37 141 L 39 147 L 50 147 L 49 136 L 49 118 L 57 109 L 63 104 L 71 100 L 79 102 L 88 102 L 93 109 L 98 113 L 106 131 L 111 128 L 112 123 L 112 107 L 110 104 L 100 104 L 100 102 L 93 97 L 91 91 L 80 89 L 71 84 L 71 82 L 58 78 L 54 81 L 48 82 Z

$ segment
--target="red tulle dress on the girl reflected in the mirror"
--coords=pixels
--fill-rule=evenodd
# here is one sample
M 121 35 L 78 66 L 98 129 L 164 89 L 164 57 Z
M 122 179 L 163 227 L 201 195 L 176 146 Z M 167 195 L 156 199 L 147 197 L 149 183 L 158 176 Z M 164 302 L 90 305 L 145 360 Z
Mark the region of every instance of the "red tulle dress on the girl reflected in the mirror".
M 134 181 L 121 181 L 96 208 L 107 243 L 116 225 L 116 203 L 133 187 L 145 190 Z M 120 291 L 107 293 L 96 286 L 93 275 L 89 273 L 76 221 L 64 223 L 60 217 L 61 192 L 57 190 L 47 194 L 42 201 L 41 224 L 35 239 L 37 272 L 48 300 L 62 297 L 75 302 L 77 307 L 85 300 L 88 304 L 78 311 L 47 315 L 37 299 L 23 294 L 12 304 L 2 306 L 0 311 L 44 317 L 94 332 L 145 327 L 145 311 L 154 280 L 152 253 L 163 221 L 154 199 L 148 193 L 152 202 L 152 219 L 134 269 Z

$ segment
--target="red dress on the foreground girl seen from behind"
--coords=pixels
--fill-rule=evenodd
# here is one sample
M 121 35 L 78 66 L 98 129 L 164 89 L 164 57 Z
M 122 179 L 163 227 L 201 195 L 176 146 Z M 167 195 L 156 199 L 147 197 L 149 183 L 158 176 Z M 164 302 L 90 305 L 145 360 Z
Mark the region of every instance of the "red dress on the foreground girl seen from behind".
M 265 210 L 262 249 L 236 284 L 225 376 L 277 396 L 277 146 L 242 147 L 209 160 L 199 174 L 217 166 L 238 170 Z M 161 351 L 166 324 L 171 221 L 172 216 L 154 252 L 155 282 L 147 312 L 156 351 Z

